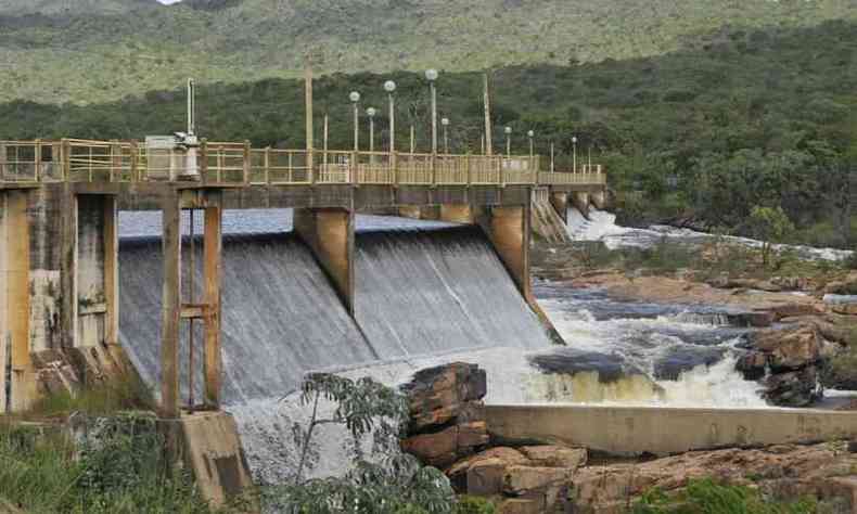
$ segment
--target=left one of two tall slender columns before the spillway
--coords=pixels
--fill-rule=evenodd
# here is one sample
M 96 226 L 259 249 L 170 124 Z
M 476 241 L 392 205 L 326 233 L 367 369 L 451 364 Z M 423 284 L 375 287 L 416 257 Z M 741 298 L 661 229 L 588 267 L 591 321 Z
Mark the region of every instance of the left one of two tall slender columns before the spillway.
M 161 415 L 179 416 L 179 323 L 181 317 L 181 209 L 175 193 L 162 201 L 164 288 L 161 340 Z

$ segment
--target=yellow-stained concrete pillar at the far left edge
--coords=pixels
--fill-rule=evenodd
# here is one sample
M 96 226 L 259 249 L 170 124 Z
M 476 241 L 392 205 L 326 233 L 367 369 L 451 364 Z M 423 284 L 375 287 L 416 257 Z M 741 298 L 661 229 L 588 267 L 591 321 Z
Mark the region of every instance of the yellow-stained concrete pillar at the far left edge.
M 29 407 L 37 387 L 30 358 L 28 194 L 7 191 L 0 198 L 0 412 L 4 412 Z

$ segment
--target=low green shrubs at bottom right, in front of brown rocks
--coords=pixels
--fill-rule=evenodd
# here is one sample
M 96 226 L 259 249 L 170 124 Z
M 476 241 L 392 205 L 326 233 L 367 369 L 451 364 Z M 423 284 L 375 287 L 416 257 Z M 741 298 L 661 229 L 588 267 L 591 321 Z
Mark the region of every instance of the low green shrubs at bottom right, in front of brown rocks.
M 711 478 L 691 480 L 675 496 L 652 489 L 635 505 L 635 514 L 818 514 L 824 510 L 815 499 L 779 502 L 757 489 L 729 486 Z

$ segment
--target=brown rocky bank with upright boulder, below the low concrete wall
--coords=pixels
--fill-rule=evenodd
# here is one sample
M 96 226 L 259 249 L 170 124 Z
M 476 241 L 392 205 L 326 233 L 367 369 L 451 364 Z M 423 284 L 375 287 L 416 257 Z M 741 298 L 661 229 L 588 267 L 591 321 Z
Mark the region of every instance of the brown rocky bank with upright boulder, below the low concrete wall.
M 760 337 L 759 345 L 767 340 Z M 806 332 L 793 339 L 807 358 L 817 349 L 810 340 Z M 776 350 L 765 359 L 798 365 Z M 655 497 L 662 502 L 688 501 L 683 499 L 688 491 L 700 487 L 752 491 L 767 502 L 803 499 L 824 505 L 823 512 L 857 507 L 857 455 L 847 442 L 623 460 L 590 455 L 587 448 L 567 445 L 499 446 L 488 437 L 490 426 L 482 415 L 485 382 L 485 372 L 473 364 L 419 372 L 404 387 L 410 398 L 411 424 L 401 446 L 423 463 L 442 468 L 458 493 L 486 498 L 501 514 L 624 513 Z

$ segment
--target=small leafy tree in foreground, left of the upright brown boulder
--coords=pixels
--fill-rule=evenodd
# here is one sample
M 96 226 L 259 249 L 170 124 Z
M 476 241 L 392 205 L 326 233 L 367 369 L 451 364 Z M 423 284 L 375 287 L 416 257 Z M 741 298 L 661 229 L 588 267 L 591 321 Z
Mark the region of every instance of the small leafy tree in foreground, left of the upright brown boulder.
M 336 406 L 322 417 L 322 402 Z M 449 479 L 434 467 L 423 467 L 398 448 L 398 436 L 408 420 L 407 398 L 371 378 L 351 381 L 331 374 L 312 374 L 303 385 L 302 402 L 311 406 L 308 424 L 295 423 L 292 436 L 298 452 L 294 479 L 269 488 L 265 500 L 273 511 L 299 514 L 428 513 L 451 512 L 455 493 Z M 340 425 L 354 438 L 356 459 L 342 477 L 304 476 L 319 457 L 316 429 Z M 361 442 L 372 436 L 368 454 Z

